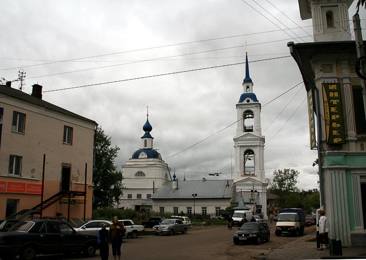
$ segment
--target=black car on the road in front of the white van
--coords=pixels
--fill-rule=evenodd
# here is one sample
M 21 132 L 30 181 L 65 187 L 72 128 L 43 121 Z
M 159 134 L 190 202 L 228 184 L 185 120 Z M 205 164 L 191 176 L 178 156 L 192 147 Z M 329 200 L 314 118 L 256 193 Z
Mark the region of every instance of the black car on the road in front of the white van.
M 244 242 L 255 242 L 260 244 L 263 240 L 267 242 L 270 239 L 270 232 L 265 222 L 247 222 L 244 223 L 237 232 L 234 233 L 234 244 Z

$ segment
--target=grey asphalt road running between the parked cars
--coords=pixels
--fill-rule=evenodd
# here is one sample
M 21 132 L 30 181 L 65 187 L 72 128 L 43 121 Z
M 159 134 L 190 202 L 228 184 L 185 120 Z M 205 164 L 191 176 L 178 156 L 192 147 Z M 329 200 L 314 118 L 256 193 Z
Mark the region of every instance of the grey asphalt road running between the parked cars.
M 125 239 L 122 243 L 122 258 L 129 260 L 249 260 L 254 255 L 268 254 L 273 249 L 295 240 L 290 236 L 276 237 L 274 235 L 275 223 L 270 224 L 271 239 L 269 242 L 257 244 L 234 245 L 233 234 L 237 227 L 228 230 L 226 227 L 193 227 L 187 234 L 175 234 L 174 236 L 140 236 L 137 239 Z M 305 235 L 314 231 L 315 226 L 305 228 Z M 100 260 L 99 251 L 93 258 L 80 258 L 79 256 L 40 256 L 37 260 Z M 113 256 L 110 250 L 110 260 Z

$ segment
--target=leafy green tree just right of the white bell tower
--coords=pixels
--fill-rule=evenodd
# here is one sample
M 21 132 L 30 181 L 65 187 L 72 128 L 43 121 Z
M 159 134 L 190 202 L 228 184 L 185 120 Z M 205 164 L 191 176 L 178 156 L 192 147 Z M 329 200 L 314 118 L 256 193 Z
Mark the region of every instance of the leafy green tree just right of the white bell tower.
M 299 172 L 294 169 L 275 170 L 273 172 L 273 179 L 271 181 L 270 192 L 279 196 L 280 206 L 287 207 L 288 196 L 291 192 L 298 192 L 296 183 Z

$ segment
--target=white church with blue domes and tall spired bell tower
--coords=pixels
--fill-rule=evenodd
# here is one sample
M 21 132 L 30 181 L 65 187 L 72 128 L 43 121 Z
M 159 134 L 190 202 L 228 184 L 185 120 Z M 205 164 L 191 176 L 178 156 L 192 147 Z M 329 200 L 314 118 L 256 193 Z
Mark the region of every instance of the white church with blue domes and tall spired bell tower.
M 261 131 L 261 103 L 253 92 L 246 55 L 244 93 L 236 104 L 238 125 L 234 137 L 233 180 L 178 180 L 153 148 L 152 126 L 148 115 L 142 148 L 122 166 L 123 195 L 117 207 L 145 209 L 173 214 L 219 214 L 232 204 L 238 209 L 262 213 L 267 219 L 264 175 L 264 136 Z

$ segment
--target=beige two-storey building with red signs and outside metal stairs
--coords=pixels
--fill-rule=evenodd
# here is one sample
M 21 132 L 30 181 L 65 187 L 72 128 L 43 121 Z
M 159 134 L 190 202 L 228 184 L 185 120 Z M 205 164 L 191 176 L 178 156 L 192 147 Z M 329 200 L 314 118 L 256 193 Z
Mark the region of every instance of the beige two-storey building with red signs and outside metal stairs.
M 0 85 L 0 219 L 91 218 L 96 126 L 42 100 L 41 85 Z

